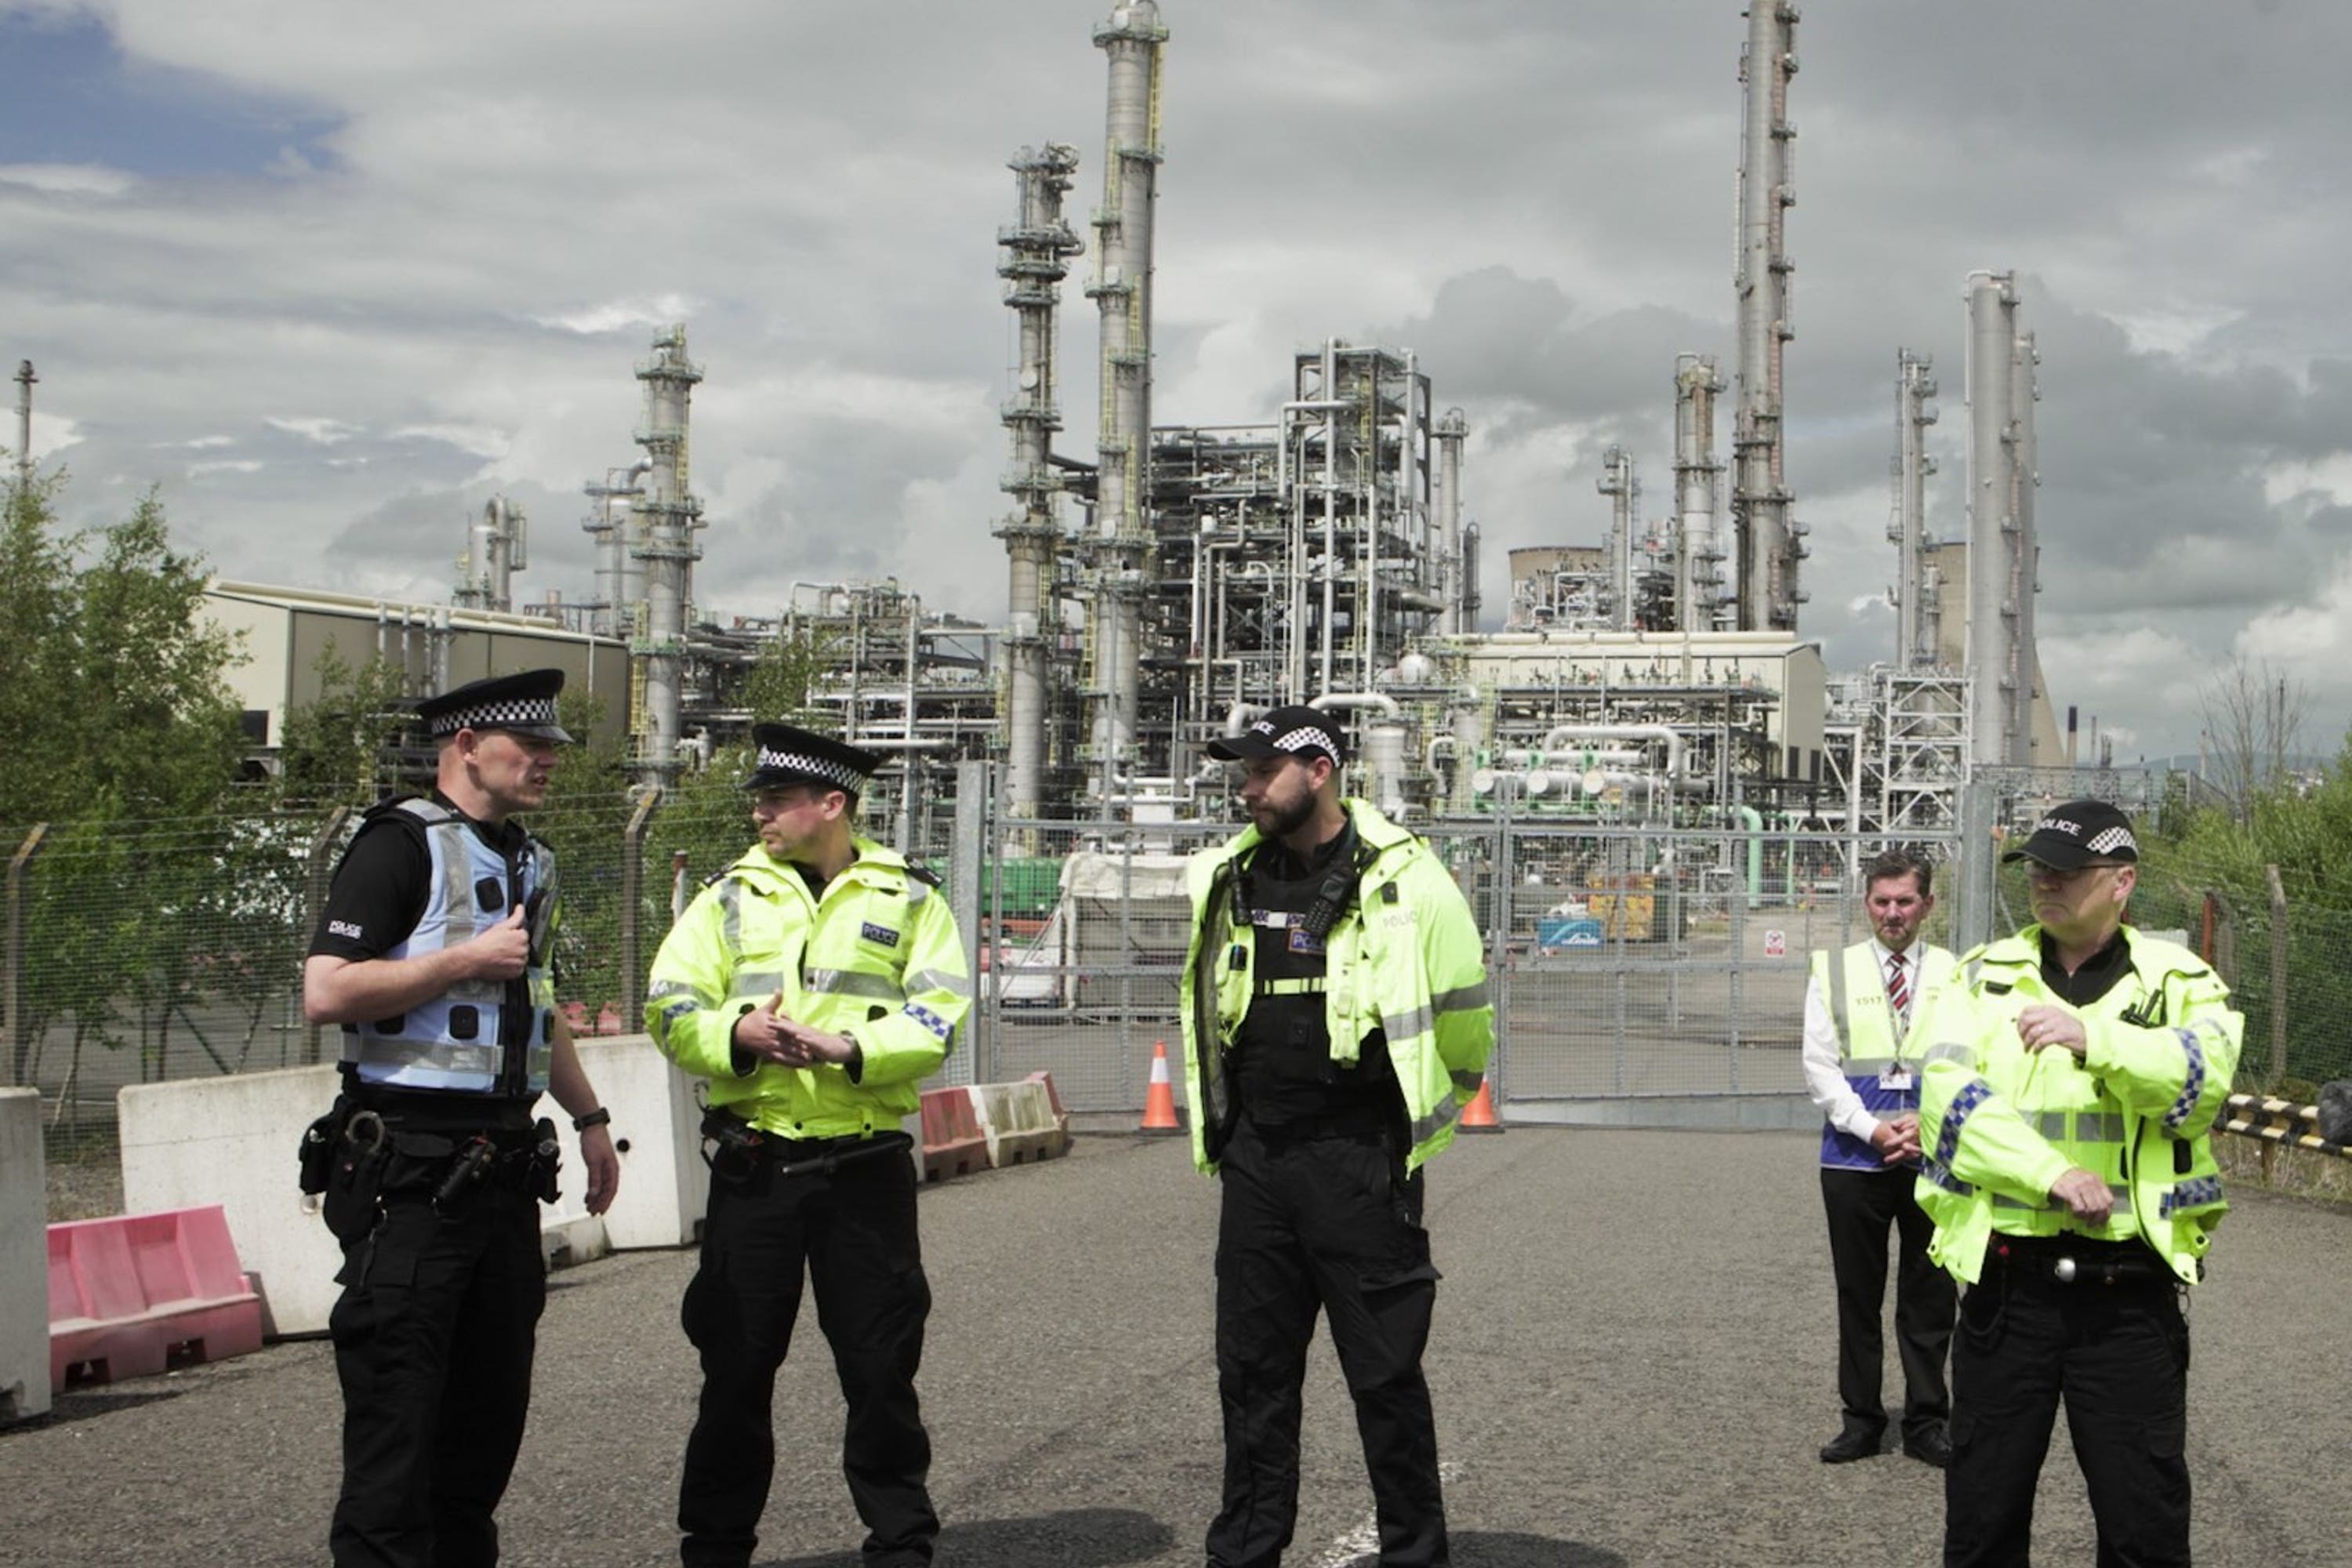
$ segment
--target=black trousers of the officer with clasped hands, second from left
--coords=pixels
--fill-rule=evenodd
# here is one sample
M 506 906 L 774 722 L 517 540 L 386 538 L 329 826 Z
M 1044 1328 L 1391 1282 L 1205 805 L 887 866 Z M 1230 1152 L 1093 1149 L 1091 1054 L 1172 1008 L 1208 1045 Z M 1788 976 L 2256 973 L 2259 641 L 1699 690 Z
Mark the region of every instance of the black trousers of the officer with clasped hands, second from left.
M 842 1474 L 866 1521 L 866 1561 L 929 1563 L 938 1514 L 924 1488 L 931 1436 L 915 1371 L 931 1286 L 906 1150 L 849 1159 L 833 1173 L 779 1175 L 769 1161 L 713 1173 L 701 1269 L 682 1312 L 701 1352 L 703 1394 L 677 1488 L 680 1559 L 750 1563 L 776 1472 L 776 1368 L 793 1345 L 802 1272 L 816 1286 L 816 1326 L 849 1401 Z M 802 1415 L 788 1425 L 807 1434 Z M 807 1443 L 793 1448 L 804 1453 Z M 804 1481 L 795 1469 L 793 1483 Z

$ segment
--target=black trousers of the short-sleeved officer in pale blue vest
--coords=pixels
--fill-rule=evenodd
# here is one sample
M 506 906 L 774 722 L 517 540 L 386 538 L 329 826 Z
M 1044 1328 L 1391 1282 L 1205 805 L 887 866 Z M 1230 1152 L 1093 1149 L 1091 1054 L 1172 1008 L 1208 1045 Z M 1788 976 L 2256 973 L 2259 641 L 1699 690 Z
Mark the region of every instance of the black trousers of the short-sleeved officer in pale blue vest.
M 492 1512 L 522 1448 L 548 1300 L 539 1201 L 480 1187 L 442 1218 L 423 1194 L 390 1197 L 374 1234 L 343 1248 L 336 1279 L 336 1568 L 496 1563 Z

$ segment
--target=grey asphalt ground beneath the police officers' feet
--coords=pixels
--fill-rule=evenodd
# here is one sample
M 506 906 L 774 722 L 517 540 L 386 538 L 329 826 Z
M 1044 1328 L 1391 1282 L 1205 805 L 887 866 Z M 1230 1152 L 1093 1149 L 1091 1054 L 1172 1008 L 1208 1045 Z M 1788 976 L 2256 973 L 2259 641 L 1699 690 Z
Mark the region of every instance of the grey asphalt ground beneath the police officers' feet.
M 1437 1161 L 1428 1371 L 1461 1568 L 1936 1561 L 1940 1472 L 1900 1453 L 1816 1460 L 1837 1396 L 1813 1161 L 1799 1133 L 1592 1128 L 1463 1138 Z M 2237 1201 L 2192 1307 L 2197 1561 L 2345 1561 L 2352 1215 Z M 1183 1143 L 1080 1138 L 1061 1161 L 929 1187 L 922 1227 L 943 1568 L 1197 1568 L 1221 1472 L 1216 1187 Z M 508 1563 L 675 1561 L 691 1269 L 691 1253 L 630 1253 L 550 1279 L 532 1427 L 501 1509 Z M 814 1314 L 776 1406 L 757 1561 L 854 1568 L 840 1394 Z M 336 1422 L 322 1342 L 68 1392 L 49 1418 L 0 1429 L 0 1561 L 320 1563 Z M 1369 1568 L 1369 1516 L 1319 1345 L 1289 1561 Z M 2042 1563 L 2093 1561 L 2063 1429 L 2037 1549 Z

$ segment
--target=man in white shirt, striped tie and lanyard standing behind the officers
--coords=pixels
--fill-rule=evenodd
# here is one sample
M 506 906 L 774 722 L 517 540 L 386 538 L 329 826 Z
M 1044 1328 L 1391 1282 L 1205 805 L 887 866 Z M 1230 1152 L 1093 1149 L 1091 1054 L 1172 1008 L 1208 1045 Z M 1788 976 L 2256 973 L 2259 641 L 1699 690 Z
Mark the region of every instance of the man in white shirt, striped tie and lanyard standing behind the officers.
M 1886 1229 L 1896 1232 L 1896 1349 L 1903 1359 L 1903 1453 L 1943 1467 L 1952 1401 L 1952 1279 L 1926 1255 L 1933 1227 L 1912 1201 L 1919 1171 L 1919 1063 L 1905 1051 L 1919 999 L 1952 973 L 1952 954 L 1919 940 L 1936 907 L 1933 867 L 1889 849 L 1863 867 L 1872 938 L 1813 954 L 1804 990 L 1804 1084 L 1820 1107 L 1820 1204 L 1837 1276 L 1837 1396 L 1844 1425 L 1823 1465 L 1879 1453 L 1886 1434 Z

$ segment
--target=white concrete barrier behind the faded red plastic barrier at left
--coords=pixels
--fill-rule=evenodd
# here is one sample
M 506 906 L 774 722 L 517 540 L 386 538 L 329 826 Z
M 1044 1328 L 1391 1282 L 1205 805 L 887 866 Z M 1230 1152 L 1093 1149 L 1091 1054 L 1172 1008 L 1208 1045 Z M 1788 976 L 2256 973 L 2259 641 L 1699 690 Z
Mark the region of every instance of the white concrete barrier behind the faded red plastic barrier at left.
M 334 1067 L 245 1072 L 228 1079 L 132 1084 L 122 1126 L 122 1211 L 228 1213 L 238 1262 L 261 1293 L 266 1335 L 320 1333 L 339 1288 L 343 1248 L 303 1206 L 294 1152 L 334 1105 Z

